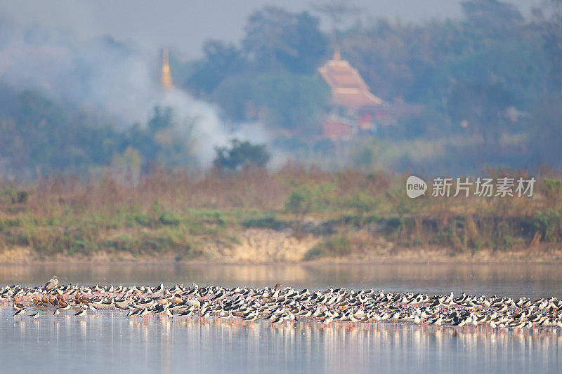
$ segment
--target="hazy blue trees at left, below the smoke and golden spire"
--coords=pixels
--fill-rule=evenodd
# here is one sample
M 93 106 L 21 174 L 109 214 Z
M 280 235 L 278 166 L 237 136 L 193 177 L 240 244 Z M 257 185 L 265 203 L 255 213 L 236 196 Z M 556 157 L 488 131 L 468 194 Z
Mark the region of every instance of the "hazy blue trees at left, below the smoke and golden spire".
M 0 100 L 0 165 L 39 175 L 50 171 L 87 174 L 96 166 L 132 168 L 150 163 L 195 165 L 195 119 L 176 119 L 174 109 L 155 107 L 147 123 L 118 130 L 112 123 L 71 111 L 40 91 L 0 87 L 13 102 Z M 6 105 L 11 105 L 6 107 Z M 12 106 L 13 105 L 13 106 Z

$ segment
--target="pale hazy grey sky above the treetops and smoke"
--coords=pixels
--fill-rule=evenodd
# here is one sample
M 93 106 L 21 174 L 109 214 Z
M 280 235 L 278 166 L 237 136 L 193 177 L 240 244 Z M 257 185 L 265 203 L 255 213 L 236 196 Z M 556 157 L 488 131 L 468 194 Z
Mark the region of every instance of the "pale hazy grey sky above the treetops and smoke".
M 315 1 L 318 2 L 318 1 Z M 385 16 L 405 22 L 431 18 L 456 18 L 461 0 L 355 0 L 363 18 Z M 527 15 L 540 0 L 509 0 Z M 0 13 L 18 25 L 39 24 L 70 29 L 79 37 L 109 34 L 133 41 L 141 48 L 163 44 L 181 51 L 183 58 L 200 55 L 207 39 L 239 41 L 247 15 L 266 5 L 291 11 L 308 8 L 303 0 L 15 0 L 2 1 Z

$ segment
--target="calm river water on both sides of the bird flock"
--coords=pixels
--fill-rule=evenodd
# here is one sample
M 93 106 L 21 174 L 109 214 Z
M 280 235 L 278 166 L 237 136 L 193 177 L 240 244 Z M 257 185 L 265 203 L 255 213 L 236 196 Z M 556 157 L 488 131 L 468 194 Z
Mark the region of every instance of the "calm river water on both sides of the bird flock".
M 558 265 L 60 265 L 2 266 L 0 283 L 200 286 L 329 286 L 562 297 Z M 37 321 L 0 308 L 2 373 L 328 372 L 561 373 L 562 335 L 535 329 L 485 329 L 391 324 L 313 323 L 271 327 L 266 321 L 130 321 L 103 311 L 79 319 L 43 312 Z

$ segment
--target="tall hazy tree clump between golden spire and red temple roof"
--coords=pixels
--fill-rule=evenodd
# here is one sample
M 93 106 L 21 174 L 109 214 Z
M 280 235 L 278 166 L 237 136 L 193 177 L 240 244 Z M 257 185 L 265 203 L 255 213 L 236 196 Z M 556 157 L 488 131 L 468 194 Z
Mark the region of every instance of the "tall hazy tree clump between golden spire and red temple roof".
M 328 54 L 319 19 L 268 6 L 249 15 L 244 31 L 240 49 L 208 41 L 185 87 L 216 100 L 235 121 L 318 133 L 329 100 L 314 76 Z

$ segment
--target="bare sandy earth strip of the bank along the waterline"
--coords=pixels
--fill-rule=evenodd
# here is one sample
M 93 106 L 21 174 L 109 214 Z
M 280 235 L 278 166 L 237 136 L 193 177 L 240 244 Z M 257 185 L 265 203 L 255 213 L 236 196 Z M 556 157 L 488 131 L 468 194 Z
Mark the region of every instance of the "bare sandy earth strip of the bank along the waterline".
M 44 256 L 29 246 L 5 249 L 0 253 L 0 264 L 272 264 L 272 263 L 562 263 L 562 247 L 539 245 L 513 251 L 452 251 L 451 248 L 398 246 L 381 236 L 372 237 L 365 232 L 348 234 L 355 248 L 342 255 L 318 256 L 319 246 L 325 236 L 301 234 L 292 230 L 246 229 L 232 234 L 232 243 L 208 240 L 199 255 L 188 258 L 175 251 L 133 254 L 126 251 L 96 251 L 91 255 L 54 253 Z

